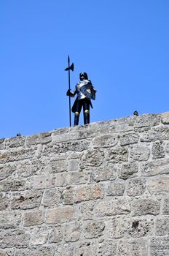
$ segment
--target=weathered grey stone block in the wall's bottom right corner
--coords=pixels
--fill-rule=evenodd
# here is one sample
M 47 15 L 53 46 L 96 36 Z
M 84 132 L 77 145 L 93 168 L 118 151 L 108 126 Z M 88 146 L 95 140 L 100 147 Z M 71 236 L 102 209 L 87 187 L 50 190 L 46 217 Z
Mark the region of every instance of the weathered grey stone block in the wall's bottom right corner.
M 169 236 L 152 238 L 150 243 L 151 256 L 168 256 Z

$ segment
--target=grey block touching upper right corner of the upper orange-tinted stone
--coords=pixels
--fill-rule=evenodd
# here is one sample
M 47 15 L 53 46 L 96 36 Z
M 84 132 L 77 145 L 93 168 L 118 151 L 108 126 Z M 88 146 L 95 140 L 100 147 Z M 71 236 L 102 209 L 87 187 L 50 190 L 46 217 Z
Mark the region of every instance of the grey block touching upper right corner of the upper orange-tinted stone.
M 98 170 L 93 170 L 91 173 L 92 181 L 99 182 L 99 181 L 112 181 L 117 176 L 117 167 L 114 166 L 107 166 L 107 167 L 100 167 Z

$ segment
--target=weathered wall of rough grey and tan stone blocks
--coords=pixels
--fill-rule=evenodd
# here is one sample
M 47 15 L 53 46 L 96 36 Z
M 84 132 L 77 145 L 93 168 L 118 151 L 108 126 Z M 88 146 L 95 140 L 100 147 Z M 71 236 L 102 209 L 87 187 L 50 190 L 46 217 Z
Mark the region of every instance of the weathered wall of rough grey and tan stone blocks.
M 169 113 L 0 140 L 1 256 L 168 256 Z

